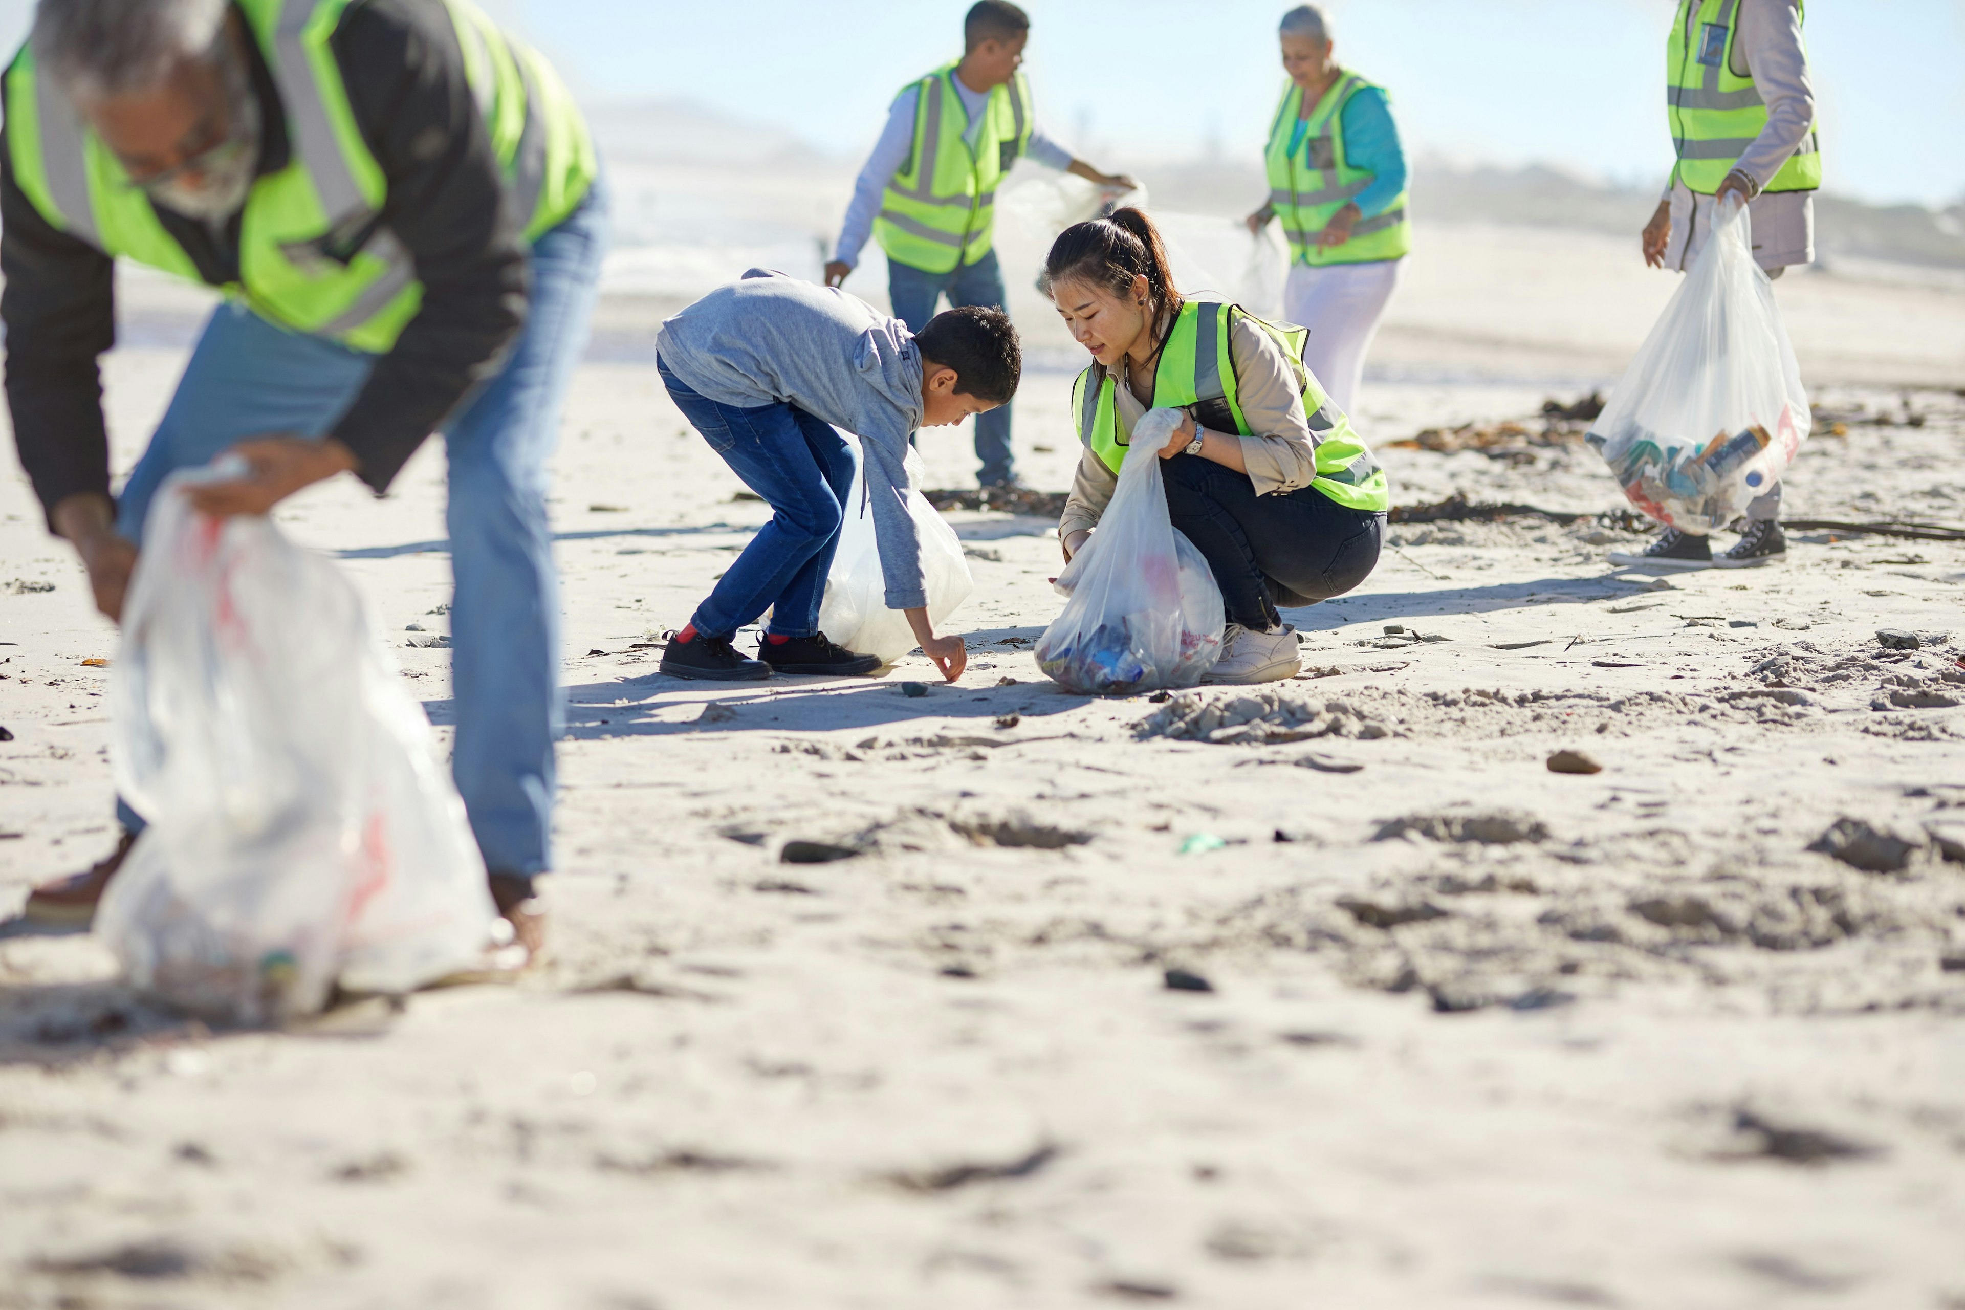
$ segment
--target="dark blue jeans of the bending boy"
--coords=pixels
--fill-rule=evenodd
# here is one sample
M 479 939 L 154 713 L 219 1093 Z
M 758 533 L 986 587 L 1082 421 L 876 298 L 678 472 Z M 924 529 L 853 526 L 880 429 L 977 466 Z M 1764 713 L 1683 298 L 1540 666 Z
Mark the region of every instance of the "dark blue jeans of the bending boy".
M 729 640 L 768 609 L 772 632 L 812 636 L 853 493 L 853 450 L 796 405 L 723 405 L 692 391 L 660 359 L 654 367 L 682 416 L 772 511 L 690 623 L 703 636 Z

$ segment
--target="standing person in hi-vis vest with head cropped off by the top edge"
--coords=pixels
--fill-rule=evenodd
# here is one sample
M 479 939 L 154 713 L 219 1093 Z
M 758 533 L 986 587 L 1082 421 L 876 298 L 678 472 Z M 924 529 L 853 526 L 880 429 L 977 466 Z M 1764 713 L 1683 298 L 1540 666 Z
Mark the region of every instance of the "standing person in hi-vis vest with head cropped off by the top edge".
M 1645 224 L 1645 263 L 1684 273 L 1727 196 L 1747 202 L 1753 257 L 1768 277 L 1816 257 L 1816 90 L 1802 45 L 1802 0 L 1678 0 L 1664 43 L 1664 96 L 1678 163 Z M 1666 528 L 1611 564 L 1755 568 L 1786 558 L 1780 483 L 1747 505 L 1747 530 L 1713 558 L 1704 536 Z

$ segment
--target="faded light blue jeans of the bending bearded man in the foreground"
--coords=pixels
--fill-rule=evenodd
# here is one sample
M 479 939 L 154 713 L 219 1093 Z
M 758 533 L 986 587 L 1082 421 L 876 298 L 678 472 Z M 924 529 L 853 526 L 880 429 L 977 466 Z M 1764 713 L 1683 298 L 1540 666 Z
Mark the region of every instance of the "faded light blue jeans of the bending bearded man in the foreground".
M 533 244 L 533 304 L 505 367 L 444 424 L 450 462 L 452 772 L 493 874 L 552 868 L 552 742 L 560 695 L 560 597 L 546 519 L 546 462 L 560 405 L 588 340 L 607 244 L 601 183 Z M 287 332 L 240 304 L 212 310 L 118 499 L 118 530 L 141 540 L 163 479 L 265 432 L 320 438 L 375 367 L 375 355 Z M 118 803 L 132 831 L 141 819 Z

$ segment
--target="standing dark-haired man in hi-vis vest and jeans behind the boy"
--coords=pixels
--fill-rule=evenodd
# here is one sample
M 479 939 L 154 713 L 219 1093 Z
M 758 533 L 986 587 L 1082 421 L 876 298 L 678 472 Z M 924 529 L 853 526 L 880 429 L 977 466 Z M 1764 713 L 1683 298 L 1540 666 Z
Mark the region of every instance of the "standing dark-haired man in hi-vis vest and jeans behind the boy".
M 886 128 L 853 187 L 825 285 L 841 285 L 869 234 L 886 251 L 894 316 L 920 332 L 947 295 L 951 308 L 1002 308 L 996 267 L 996 185 L 1018 155 L 1108 191 L 1132 191 L 1124 175 L 1100 173 L 1043 136 L 1018 67 L 1030 16 L 1006 0 L 981 0 L 963 20 L 963 57 L 894 96 Z M 1014 487 L 1010 407 L 977 414 L 979 481 Z

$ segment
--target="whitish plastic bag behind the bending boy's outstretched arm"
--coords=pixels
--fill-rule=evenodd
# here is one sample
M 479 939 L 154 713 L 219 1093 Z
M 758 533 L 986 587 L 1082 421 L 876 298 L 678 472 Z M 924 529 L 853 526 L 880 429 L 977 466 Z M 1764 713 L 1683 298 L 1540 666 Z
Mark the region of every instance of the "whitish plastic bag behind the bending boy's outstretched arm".
M 825 575 L 825 599 L 819 601 L 819 632 L 859 654 L 876 654 L 892 664 L 920 642 L 908 627 L 908 615 L 886 607 L 886 577 L 880 573 L 880 544 L 872 532 L 872 507 L 867 503 L 867 462 L 859 438 L 841 432 L 853 448 L 853 491 L 847 495 L 845 522 L 833 548 L 833 568 Z M 922 577 L 927 585 L 927 621 L 943 619 L 969 599 L 977 579 L 963 556 L 955 528 L 935 513 L 922 495 L 922 456 L 908 448 L 908 517 L 922 542 Z

